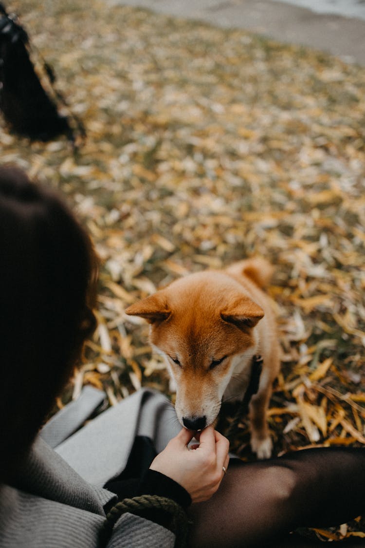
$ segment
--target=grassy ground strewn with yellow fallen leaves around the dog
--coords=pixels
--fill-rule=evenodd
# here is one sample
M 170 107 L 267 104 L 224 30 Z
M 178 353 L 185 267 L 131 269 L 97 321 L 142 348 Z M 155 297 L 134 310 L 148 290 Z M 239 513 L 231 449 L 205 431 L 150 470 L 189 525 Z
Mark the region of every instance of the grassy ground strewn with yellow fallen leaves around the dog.
M 259 254 L 275 265 L 283 349 L 275 454 L 364 444 L 365 70 L 107 1 L 10 7 L 87 134 L 74 155 L 65 138 L 30 143 L 0 121 L 1 161 L 59 189 L 101 258 L 99 328 L 59 405 L 84 384 L 111 405 L 140 386 L 173 400 L 125 307 Z M 252 458 L 245 417 L 231 445 Z M 323 535 L 350 530 L 365 536 L 361 523 Z

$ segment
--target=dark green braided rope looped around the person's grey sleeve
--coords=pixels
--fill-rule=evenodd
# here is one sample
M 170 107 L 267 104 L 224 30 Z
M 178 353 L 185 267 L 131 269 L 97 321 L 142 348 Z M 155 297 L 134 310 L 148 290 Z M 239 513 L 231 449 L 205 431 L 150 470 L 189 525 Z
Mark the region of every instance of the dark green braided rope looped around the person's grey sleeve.
M 113 527 L 119 517 L 126 512 L 143 515 L 145 510 L 162 510 L 171 516 L 171 526 L 175 533 L 175 548 L 187 546 L 190 521 L 182 507 L 175 500 L 167 499 L 158 495 L 134 496 L 132 499 L 123 499 L 109 510 L 106 521 L 101 529 L 102 539 L 106 540 L 112 533 Z

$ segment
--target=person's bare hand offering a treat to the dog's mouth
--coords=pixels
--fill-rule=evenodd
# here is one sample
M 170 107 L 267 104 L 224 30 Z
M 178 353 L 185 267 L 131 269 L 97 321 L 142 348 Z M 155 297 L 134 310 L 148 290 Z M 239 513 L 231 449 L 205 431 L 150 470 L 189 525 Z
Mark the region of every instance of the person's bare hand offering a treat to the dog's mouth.
M 199 447 L 188 449 L 194 437 L 192 430 L 183 428 L 150 465 L 174 479 L 190 494 L 193 503 L 208 500 L 216 492 L 227 469 L 229 441 L 219 432 L 208 426 L 195 433 L 200 438 Z

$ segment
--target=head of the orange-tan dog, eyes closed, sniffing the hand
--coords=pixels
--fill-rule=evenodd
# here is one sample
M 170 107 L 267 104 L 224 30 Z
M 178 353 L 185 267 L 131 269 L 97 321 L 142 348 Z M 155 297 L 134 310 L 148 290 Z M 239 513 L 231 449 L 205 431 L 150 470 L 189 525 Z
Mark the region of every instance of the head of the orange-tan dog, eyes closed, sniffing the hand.
M 191 430 L 212 424 L 235 359 L 254 346 L 263 310 L 222 272 L 180 278 L 125 311 L 150 323 L 150 341 L 176 382 L 176 414 Z

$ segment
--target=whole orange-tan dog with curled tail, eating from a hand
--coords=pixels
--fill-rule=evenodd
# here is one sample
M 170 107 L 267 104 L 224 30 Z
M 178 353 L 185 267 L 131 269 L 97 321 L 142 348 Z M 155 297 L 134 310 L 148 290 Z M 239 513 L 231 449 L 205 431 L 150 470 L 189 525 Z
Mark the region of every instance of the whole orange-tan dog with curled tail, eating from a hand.
M 188 429 L 215 423 L 222 399 L 242 399 L 252 357 L 263 357 L 250 402 L 251 447 L 260 459 L 271 455 L 266 409 L 280 365 L 273 311 L 260 289 L 272 271 L 256 258 L 190 274 L 125 311 L 150 323 L 150 342 L 166 359 L 176 383 L 176 414 Z

